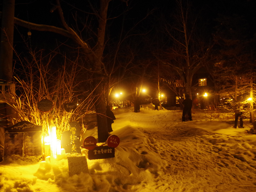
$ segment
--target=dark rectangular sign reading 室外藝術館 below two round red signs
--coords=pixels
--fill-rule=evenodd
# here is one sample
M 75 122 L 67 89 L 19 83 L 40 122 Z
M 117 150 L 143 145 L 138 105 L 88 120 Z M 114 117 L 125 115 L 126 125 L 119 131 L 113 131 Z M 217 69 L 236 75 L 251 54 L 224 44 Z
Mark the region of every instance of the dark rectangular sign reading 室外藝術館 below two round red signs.
M 106 159 L 115 157 L 115 148 L 108 146 L 96 146 L 92 150 L 88 150 L 88 159 Z

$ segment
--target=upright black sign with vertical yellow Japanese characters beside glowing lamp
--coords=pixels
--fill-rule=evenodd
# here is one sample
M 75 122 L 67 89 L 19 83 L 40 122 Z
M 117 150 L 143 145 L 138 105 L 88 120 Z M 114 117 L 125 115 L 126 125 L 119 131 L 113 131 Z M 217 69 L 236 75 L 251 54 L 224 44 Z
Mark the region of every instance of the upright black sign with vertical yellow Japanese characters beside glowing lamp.
M 70 129 L 64 131 L 61 136 L 61 145 L 66 153 L 81 153 L 80 148 L 80 124 L 73 121 L 69 122 Z

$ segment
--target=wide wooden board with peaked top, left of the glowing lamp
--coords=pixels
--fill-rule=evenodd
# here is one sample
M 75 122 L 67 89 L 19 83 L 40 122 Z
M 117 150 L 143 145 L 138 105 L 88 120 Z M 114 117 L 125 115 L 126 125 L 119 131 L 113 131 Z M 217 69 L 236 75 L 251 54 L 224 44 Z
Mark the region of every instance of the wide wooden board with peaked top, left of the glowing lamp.
M 42 157 L 42 126 L 21 121 L 5 128 L 4 156 Z

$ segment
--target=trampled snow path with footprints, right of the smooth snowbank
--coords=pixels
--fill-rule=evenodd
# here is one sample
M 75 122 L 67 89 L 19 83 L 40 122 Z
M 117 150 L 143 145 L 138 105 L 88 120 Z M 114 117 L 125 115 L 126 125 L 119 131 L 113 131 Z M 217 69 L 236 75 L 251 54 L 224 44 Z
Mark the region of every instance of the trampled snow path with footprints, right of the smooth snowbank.
M 240 139 L 243 133 L 226 136 L 195 126 L 201 120 L 181 122 L 181 112 L 171 111 L 141 110 L 129 116 L 130 124 L 147 135 L 149 146 L 167 162 L 155 186 L 148 183 L 148 191 L 256 191 L 256 148 L 248 153 L 246 146 L 251 146 Z M 239 155 L 243 152 L 249 159 Z

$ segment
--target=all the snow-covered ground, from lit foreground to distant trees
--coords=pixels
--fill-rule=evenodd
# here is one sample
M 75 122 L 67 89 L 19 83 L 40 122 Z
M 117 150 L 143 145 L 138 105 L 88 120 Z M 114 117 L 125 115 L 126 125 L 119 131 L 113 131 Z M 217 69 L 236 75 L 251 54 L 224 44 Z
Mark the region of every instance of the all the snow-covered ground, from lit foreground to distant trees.
M 256 191 L 256 135 L 245 134 L 248 120 L 234 129 L 227 111 L 194 110 L 188 122 L 181 122 L 181 111 L 155 111 L 152 105 L 132 111 L 113 110 L 111 133 L 120 138 L 115 158 L 87 160 L 89 171 L 71 177 L 66 156 L 44 164 L 4 161 L 0 191 Z

